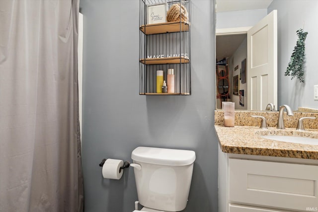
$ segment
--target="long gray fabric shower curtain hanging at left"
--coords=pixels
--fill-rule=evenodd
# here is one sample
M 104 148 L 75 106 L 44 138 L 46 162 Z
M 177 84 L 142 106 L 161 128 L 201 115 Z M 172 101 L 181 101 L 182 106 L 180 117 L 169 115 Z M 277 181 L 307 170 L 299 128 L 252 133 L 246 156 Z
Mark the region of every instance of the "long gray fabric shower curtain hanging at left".
M 79 0 L 0 0 L 0 212 L 83 210 Z

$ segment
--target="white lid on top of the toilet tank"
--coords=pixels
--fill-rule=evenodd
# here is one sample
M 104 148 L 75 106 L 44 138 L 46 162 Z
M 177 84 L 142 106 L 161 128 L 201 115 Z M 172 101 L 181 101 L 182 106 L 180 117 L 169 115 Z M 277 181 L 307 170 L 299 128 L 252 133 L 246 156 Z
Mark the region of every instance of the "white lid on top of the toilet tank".
M 133 150 L 131 158 L 135 161 L 158 165 L 184 166 L 194 162 L 195 152 L 182 149 L 139 146 Z

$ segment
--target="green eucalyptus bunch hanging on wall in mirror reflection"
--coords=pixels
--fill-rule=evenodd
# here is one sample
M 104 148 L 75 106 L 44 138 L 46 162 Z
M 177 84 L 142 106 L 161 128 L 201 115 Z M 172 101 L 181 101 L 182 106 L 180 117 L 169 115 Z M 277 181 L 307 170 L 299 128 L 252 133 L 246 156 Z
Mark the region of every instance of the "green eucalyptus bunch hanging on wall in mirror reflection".
M 298 35 L 298 40 L 293 54 L 290 57 L 285 76 L 292 76 L 291 79 L 297 77 L 300 82 L 304 83 L 305 40 L 308 32 L 304 32 L 303 29 L 299 29 L 296 33 Z

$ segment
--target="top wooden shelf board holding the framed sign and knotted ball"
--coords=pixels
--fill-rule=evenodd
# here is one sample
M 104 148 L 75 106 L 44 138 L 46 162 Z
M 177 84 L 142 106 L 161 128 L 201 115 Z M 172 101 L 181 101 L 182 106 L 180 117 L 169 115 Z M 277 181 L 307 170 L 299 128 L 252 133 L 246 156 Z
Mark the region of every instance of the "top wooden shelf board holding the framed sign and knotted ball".
M 169 32 L 186 32 L 189 31 L 188 22 L 172 21 L 165 23 L 146 24 L 140 26 L 140 30 L 146 35 L 169 33 Z

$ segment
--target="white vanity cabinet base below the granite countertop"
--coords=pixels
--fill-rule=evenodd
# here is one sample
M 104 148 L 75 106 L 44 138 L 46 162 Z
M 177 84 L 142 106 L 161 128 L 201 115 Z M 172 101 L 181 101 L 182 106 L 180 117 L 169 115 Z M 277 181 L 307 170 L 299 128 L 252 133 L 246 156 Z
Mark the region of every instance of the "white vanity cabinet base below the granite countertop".
M 318 160 L 222 152 L 219 212 L 318 211 Z

